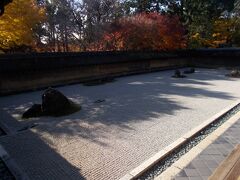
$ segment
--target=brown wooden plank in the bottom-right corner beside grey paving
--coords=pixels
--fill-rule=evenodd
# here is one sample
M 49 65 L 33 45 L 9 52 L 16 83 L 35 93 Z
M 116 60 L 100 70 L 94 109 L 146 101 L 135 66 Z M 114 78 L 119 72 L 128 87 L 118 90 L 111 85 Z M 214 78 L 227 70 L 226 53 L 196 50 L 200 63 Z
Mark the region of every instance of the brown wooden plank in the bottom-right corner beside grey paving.
M 230 155 L 218 166 L 209 180 L 225 180 L 240 161 L 240 145 L 237 145 Z M 240 171 L 240 170 L 238 170 Z

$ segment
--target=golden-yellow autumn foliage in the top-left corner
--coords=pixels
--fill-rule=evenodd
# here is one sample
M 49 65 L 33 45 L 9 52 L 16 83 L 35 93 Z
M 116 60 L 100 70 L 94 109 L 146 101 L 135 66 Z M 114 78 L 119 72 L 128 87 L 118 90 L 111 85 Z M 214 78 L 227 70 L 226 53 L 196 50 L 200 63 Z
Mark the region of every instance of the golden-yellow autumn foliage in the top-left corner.
M 35 0 L 14 0 L 0 18 L 0 50 L 32 46 L 33 29 L 44 18 Z

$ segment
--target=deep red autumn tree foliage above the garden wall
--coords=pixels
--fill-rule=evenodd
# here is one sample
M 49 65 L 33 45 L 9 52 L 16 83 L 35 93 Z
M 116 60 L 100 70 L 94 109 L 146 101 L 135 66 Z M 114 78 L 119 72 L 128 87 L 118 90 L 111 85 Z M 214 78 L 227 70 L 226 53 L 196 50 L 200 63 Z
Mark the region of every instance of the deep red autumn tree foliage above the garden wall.
M 142 13 L 112 23 L 89 50 L 174 50 L 185 48 L 185 30 L 177 16 Z

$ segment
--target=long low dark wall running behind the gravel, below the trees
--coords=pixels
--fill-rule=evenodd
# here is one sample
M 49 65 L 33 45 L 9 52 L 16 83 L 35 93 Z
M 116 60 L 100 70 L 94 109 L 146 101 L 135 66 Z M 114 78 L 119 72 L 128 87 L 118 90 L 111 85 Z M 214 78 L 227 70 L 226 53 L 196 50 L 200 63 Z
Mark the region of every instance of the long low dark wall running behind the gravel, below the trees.
M 239 49 L 0 56 L 0 95 L 185 66 L 240 67 Z

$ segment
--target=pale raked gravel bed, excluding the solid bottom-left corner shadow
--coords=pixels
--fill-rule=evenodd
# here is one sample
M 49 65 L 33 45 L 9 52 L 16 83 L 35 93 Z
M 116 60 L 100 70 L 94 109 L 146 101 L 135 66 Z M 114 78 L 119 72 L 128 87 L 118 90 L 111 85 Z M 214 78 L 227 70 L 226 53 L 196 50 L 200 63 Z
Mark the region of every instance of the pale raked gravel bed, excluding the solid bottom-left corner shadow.
M 119 179 L 240 98 L 240 79 L 225 77 L 227 70 L 197 69 L 184 79 L 171 78 L 173 72 L 58 88 L 82 104 L 66 117 L 20 118 L 43 91 L 1 97 L 0 108 L 23 124 L 37 123 L 32 131 L 83 178 Z

